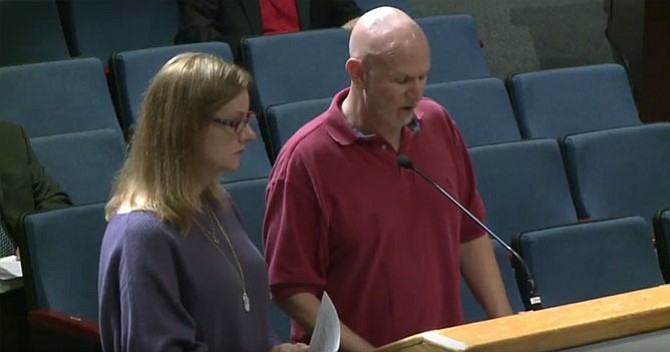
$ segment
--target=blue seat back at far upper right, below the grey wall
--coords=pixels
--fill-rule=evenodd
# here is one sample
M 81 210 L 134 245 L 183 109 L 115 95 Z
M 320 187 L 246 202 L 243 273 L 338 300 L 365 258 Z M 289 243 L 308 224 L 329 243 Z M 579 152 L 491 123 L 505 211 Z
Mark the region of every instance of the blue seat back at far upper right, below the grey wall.
M 524 138 L 559 138 L 641 123 L 620 65 L 521 73 L 511 77 L 510 88 Z

